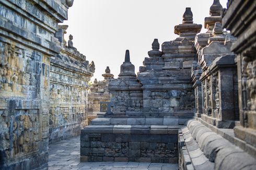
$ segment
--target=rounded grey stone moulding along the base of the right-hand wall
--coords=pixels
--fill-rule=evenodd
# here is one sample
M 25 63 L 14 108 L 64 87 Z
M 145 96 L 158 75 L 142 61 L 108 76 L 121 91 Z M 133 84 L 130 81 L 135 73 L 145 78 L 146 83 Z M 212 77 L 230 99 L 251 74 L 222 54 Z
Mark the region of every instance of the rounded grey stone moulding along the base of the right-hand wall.
M 234 166 L 234 169 L 241 169 L 242 166 L 250 167 L 251 164 L 255 164 L 255 159 L 252 156 L 249 156 L 248 153 L 239 149 L 215 132 L 212 132 L 199 121 L 190 120 L 187 127 L 188 129 L 182 129 L 182 136 L 185 142 L 184 147 L 180 146 L 182 157 L 182 165 L 180 166 L 182 166 L 182 168 L 184 168 L 186 164 L 191 164 L 190 162 L 192 162 L 193 168 L 195 169 L 228 169 L 231 168 L 231 166 Z M 207 129 L 207 131 L 202 132 L 204 128 Z M 198 134 L 202 135 L 200 136 Z M 194 138 L 192 136 L 194 136 Z M 198 144 L 195 138 L 199 141 Z M 238 156 L 235 155 L 237 154 L 243 156 L 236 162 L 235 160 L 237 160 L 236 157 Z M 244 158 L 247 160 L 245 161 Z M 225 160 L 228 161 L 225 162 Z

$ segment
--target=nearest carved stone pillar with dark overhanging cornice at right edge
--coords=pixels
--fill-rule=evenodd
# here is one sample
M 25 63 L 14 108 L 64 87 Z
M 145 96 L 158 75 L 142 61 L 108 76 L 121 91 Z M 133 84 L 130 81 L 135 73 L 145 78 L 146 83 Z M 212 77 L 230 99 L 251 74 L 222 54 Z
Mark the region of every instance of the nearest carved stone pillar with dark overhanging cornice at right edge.
M 235 136 L 246 142 L 246 150 L 255 151 L 255 113 L 256 113 L 256 93 L 255 93 L 255 10 L 248 8 L 255 6 L 255 1 L 228 1 L 228 9 L 223 18 L 224 28 L 230 30 L 231 34 L 237 38 L 237 42 L 232 44 L 231 50 L 237 54 L 238 69 L 238 98 L 239 98 L 239 119 L 240 126 L 235 127 Z M 237 11 L 237 8 L 241 11 Z M 248 17 L 252 19 L 246 22 Z M 246 24 L 245 24 L 246 22 Z M 238 31 L 236 28 L 239 28 Z M 245 136 L 245 134 L 248 134 Z M 250 135 L 249 135 L 250 134 Z M 249 147 L 250 145 L 250 147 Z M 255 152 L 248 152 L 254 157 Z

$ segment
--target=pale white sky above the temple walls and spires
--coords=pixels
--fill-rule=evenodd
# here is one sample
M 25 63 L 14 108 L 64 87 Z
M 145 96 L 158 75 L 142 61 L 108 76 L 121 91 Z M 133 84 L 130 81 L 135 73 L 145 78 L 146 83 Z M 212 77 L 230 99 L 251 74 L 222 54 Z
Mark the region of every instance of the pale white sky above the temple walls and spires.
M 226 8 L 227 0 L 220 3 Z M 203 25 L 212 4 L 213 0 L 75 0 L 64 21 L 69 26 L 65 39 L 72 34 L 77 50 L 95 62 L 91 81 L 103 80 L 107 66 L 117 78 L 125 50 L 130 50 L 137 73 L 155 38 L 162 44 L 178 37 L 174 26 L 182 23 L 186 7 L 191 7 L 194 23 Z

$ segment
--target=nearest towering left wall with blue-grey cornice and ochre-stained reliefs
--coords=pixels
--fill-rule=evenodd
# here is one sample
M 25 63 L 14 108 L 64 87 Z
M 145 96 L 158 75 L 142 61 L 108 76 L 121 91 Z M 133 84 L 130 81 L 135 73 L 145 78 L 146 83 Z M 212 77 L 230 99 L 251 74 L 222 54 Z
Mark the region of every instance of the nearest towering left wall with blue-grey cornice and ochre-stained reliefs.
M 47 168 L 50 57 L 73 1 L 0 2 L 0 168 Z

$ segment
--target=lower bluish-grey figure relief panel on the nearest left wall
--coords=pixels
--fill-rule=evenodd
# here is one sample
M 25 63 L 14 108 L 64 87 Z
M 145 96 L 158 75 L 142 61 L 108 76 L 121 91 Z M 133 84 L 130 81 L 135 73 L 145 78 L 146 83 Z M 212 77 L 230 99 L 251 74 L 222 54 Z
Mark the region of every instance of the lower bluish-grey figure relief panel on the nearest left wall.
M 0 122 L 5 122 L 5 129 L 8 129 L 1 137 L 1 150 L 4 150 L 8 159 L 39 149 L 38 110 L 15 110 L 11 117 L 7 116 L 6 111 L 2 111 Z M 11 146 L 13 147 L 10 148 Z

